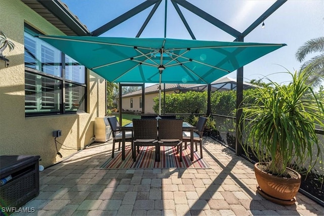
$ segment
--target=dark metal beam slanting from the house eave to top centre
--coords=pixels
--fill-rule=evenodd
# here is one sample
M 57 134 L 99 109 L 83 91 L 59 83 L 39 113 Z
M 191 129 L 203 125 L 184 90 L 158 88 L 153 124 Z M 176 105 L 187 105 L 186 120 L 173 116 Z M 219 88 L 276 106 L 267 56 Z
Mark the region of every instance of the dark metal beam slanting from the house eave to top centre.
M 111 20 L 110 22 L 104 24 L 103 26 L 97 28 L 92 32 L 93 36 L 99 36 L 100 34 L 103 34 L 104 32 L 108 31 L 109 29 L 119 25 L 120 23 L 128 20 L 129 18 L 135 16 L 136 14 L 144 11 L 145 9 L 149 8 L 150 6 L 154 5 L 157 2 L 160 2 L 161 0 L 149 0 L 145 1 L 142 4 L 136 6 L 135 8 L 129 10 L 128 12 L 120 15 L 119 17 Z

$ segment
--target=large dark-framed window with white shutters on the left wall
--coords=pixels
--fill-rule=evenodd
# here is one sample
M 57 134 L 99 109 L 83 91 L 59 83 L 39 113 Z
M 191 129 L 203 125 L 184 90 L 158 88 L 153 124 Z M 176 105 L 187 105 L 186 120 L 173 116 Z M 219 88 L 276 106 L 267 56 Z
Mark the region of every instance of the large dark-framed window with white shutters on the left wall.
M 85 112 L 85 66 L 35 37 L 30 26 L 24 33 L 26 116 Z

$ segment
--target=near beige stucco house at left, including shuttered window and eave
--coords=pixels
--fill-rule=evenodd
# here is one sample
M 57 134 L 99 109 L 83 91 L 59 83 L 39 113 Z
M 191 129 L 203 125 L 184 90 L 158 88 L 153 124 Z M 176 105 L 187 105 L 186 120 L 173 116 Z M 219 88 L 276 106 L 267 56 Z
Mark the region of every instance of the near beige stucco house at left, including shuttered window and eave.
M 35 35 L 87 35 L 60 1 L 0 0 L 0 31 L 15 49 L 0 59 L 0 154 L 40 155 L 49 166 L 93 141 L 105 116 L 105 80 Z M 64 145 L 64 146 L 62 146 Z

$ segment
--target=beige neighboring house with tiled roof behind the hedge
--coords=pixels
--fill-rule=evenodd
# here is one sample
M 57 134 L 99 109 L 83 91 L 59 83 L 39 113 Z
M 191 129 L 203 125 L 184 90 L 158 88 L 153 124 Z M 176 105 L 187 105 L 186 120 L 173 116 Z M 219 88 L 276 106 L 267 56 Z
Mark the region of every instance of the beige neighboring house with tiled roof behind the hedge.
M 158 85 L 151 85 L 145 88 L 145 113 L 155 113 L 153 110 L 153 98 L 158 97 Z M 186 91 L 186 88 L 193 87 L 196 84 L 169 84 L 166 83 L 166 94 L 179 93 Z M 164 84 L 161 84 L 161 93 L 164 93 Z M 121 97 L 121 104 L 124 110 L 142 112 L 142 90 L 138 90 Z

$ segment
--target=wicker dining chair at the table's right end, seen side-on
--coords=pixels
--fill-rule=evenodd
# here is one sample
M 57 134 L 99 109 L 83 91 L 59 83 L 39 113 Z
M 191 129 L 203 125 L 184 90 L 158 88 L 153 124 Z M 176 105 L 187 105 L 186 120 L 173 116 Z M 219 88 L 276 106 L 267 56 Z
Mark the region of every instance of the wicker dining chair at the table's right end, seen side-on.
M 199 143 L 200 147 L 200 158 L 203 158 L 203 134 L 204 134 L 204 129 L 207 123 L 206 117 L 199 116 L 198 122 L 196 125 L 196 128 L 193 131 L 193 142 L 196 145 L 196 151 L 197 151 L 197 143 Z M 184 148 L 187 149 L 187 142 L 190 142 L 190 132 L 189 131 L 184 131 L 183 132 L 183 137 L 182 141 L 184 142 Z

